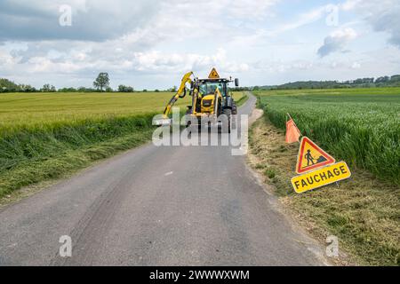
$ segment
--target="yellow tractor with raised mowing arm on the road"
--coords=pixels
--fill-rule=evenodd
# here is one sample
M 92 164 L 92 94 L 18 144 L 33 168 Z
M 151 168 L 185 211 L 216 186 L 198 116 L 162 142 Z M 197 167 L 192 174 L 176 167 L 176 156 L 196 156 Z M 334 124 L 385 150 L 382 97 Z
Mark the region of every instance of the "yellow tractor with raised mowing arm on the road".
M 228 84 L 235 82 L 239 86 L 239 80 L 220 78 L 217 70 L 212 68 L 212 72 L 207 79 L 194 77 L 193 72 L 184 75 L 180 83 L 180 88 L 169 101 L 164 109 L 164 120 L 159 124 L 169 124 L 172 106 L 178 99 L 186 97 L 187 92 L 192 97 L 192 103 L 186 112 L 187 126 L 197 124 L 202 126 L 222 126 L 222 122 L 228 123 L 225 129 L 230 132 L 232 114 L 237 114 L 237 107 L 232 94 L 228 91 Z M 187 84 L 189 89 L 187 90 Z M 222 115 L 223 114 L 223 115 Z M 220 118 L 223 119 L 220 119 Z

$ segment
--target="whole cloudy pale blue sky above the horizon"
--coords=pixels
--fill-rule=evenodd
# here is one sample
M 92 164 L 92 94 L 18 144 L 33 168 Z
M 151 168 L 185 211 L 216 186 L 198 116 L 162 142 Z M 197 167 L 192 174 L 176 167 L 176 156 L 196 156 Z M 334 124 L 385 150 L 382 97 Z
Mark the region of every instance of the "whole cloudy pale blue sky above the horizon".
M 69 13 L 70 11 L 70 13 Z M 211 67 L 242 85 L 400 74 L 399 0 L 0 0 L 0 77 L 164 89 Z

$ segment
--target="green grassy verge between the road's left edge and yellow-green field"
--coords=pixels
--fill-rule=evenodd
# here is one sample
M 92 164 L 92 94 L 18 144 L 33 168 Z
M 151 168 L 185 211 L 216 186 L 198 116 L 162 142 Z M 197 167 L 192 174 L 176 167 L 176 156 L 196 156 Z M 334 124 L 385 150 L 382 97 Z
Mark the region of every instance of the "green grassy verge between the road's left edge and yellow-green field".
M 29 125 L 0 137 L 0 197 L 145 143 L 153 114 Z

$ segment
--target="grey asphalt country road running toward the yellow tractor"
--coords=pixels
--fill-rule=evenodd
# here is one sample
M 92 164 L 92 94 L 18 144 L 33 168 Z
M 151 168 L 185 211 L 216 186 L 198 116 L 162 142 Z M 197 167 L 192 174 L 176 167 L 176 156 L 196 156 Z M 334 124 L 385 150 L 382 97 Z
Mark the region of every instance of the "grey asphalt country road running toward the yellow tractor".
M 2 209 L 0 265 L 324 264 L 230 150 L 150 143 Z

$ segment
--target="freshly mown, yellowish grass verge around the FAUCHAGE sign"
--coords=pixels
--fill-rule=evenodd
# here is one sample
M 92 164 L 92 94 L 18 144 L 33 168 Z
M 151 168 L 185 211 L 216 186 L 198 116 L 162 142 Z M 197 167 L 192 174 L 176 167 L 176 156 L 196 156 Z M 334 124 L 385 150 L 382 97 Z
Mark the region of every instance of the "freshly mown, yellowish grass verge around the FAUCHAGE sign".
M 284 130 L 267 116 L 252 126 L 250 162 L 274 185 L 275 193 L 293 217 L 324 243 L 329 235 L 340 241 L 338 264 L 400 264 L 400 188 L 365 170 L 321 189 L 296 194 L 290 185 L 299 145 L 284 143 Z

